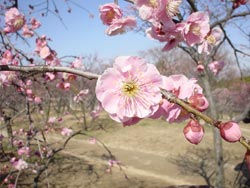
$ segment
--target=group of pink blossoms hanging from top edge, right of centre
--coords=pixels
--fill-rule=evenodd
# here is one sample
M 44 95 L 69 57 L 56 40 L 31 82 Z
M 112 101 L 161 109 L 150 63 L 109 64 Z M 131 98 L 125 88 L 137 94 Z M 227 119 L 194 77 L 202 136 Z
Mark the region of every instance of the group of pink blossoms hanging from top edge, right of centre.
M 186 20 L 179 21 L 177 15 L 181 3 L 182 0 L 134 1 L 140 18 L 151 25 L 146 29 L 147 36 L 166 43 L 163 51 L 169 51 L 180 42 L 185 42 L 188 46 L 196 45 L 199 53 L 209 54 L 212 47 L 216 46 L 221 39 L 221 29 L 210 29 L 207 12 L 194 12 Z M 108 35 L 123 33 L 124 29 L 122 32 L 120 29 L 127 25 L 135 26 L 131 21 L 118 21 L 122 17 L 122 11 L 114 3 L 102 5 L 99 10 L 101 20 L 109 25 L 106 31 Z

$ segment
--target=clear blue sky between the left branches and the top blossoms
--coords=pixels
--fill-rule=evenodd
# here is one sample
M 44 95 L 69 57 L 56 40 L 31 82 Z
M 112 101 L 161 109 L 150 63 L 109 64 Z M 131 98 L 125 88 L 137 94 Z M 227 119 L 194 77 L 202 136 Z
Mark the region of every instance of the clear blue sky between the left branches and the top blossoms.
M 20 10 L 27 15 L 28 4 L 35 4 L 36 2 L 41 1 L 22 1 L 19 4 Z M 58 52 L 59 57 L 64 55 L 84 56 L 96 53 L 100 57 L 113 58 L 119 55 L 137 55 L 139 51 L 160 46 L 159 42 L 148 39 L 142 32 L 139 34 L 130 31 L 123 35 L 107 36 L 105 34 L 106 26 L 102 24 L 99 18 L 98 8 L 101 4 L 112 1 L 75 0 L 75 2 L 90 11 L 94 17 L 90 18 L 87 11 L 73 4 L 70 4 L 72 12 L 67 13 L 67 6 L 64 1 L 57 3 L 64 24 L 51 13 L 44 18 L 40 16 L 40 13 L 34 14 L 42 23 L 42 27 L 37 32 L 40 35 L 46 34 L 53 40 L 49 45 Z M 119 5 L 121 7 L 130 6 L 129 3 L 124 1 L 120 1 Z M 51 8 L 53 9 L 52 4 Z

